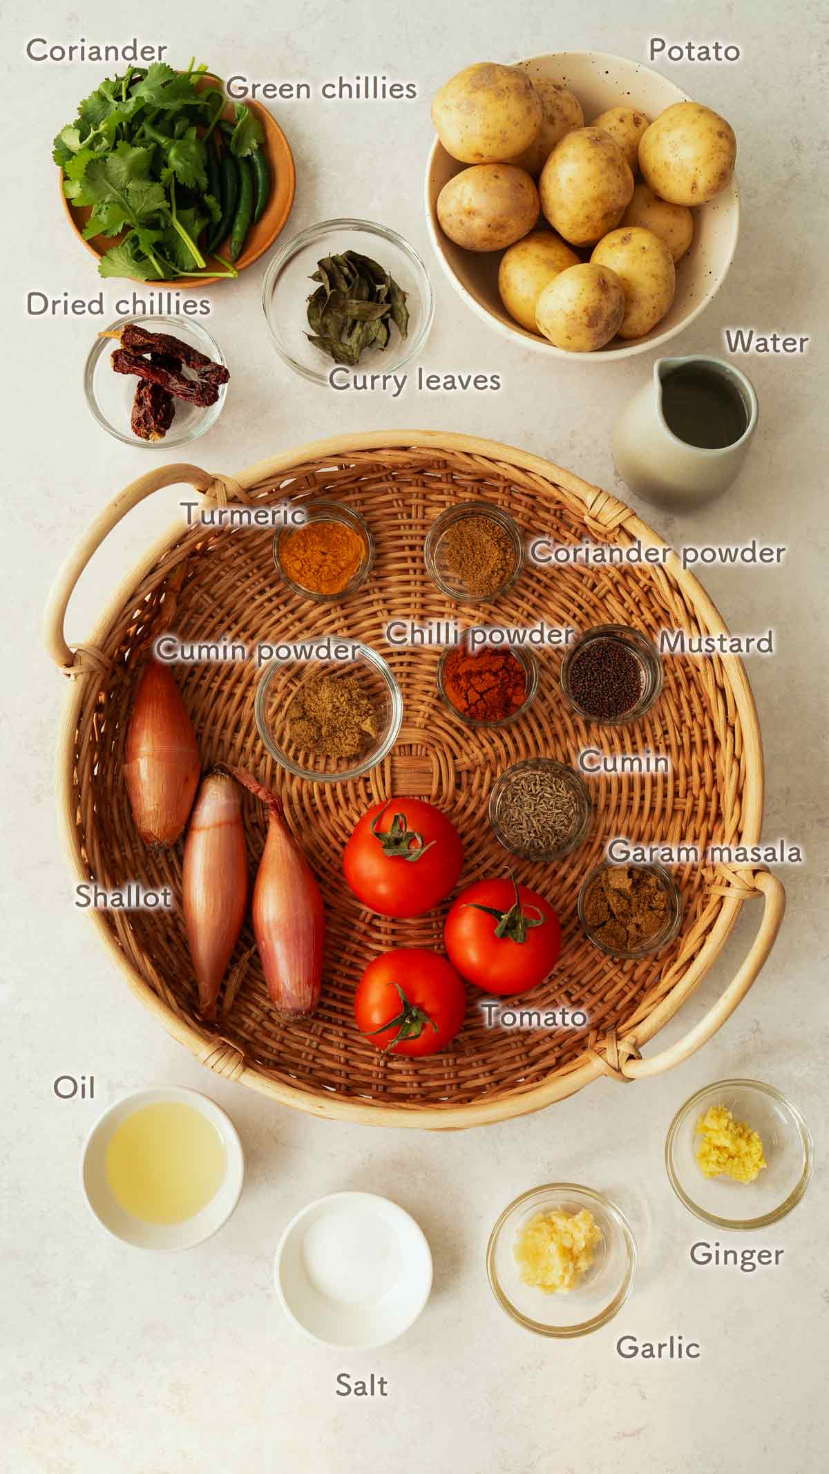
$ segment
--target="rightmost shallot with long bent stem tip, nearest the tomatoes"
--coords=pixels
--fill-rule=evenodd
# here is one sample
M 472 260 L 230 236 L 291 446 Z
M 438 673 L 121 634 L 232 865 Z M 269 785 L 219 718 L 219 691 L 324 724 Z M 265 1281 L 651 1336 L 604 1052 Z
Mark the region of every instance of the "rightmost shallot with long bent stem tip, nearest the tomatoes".
M 322 986 L 325 914 L 320 886 L 275 793 L 243 768 L 230 771 L 268 808 L 268 836 L 253 886 L 253 935 L 274 1008 L 302 1019 L 317 1008 Z

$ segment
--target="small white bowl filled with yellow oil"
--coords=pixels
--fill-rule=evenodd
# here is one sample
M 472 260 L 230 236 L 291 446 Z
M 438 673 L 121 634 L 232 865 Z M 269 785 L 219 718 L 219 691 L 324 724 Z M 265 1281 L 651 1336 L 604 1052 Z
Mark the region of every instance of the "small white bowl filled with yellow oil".
M 135 1248 L 203 1244 L 241 1192 L 244 1153 L 230 1116 L 199 1091 L 125 1095 L 93 1126 L 81 1184 L 99 1223 Z

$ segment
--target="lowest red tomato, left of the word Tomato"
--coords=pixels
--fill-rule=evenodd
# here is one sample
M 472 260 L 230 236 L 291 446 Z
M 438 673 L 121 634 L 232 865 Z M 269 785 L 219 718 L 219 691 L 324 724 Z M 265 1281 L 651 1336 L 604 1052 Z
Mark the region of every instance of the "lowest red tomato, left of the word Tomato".
M 353 999 L 356 1026 L 387 1054 L 437 1054 L 467 1014 L 454 967 L 424 946 L 401 946 L 368 964 Z

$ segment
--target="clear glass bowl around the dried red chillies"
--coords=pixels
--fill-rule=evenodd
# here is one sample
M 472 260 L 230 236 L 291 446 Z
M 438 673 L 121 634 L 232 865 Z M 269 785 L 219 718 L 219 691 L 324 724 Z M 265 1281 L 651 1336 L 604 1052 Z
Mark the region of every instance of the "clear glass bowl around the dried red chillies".
M 146 327 L 149 333 L 172 333 L 174 338 L 180 338 L 183 342 L 190 343 L 191 348 L 197 348 L 199 352 L 206 354 L 216 364 L 224 364 L 225 361 L 215 338 L 211 338 L 206 327 L 202 327 L 191 317 L 118 317 L 105 332 L 119 333 L 122 327 L 128 327 L 131 323 Z M 188 445 L 190 441 L 197 441 L 200 435 L 205 435 L 216 423 L 224 410 L 227 383 L 219 386 L 219 397 L 215 404 L 200 407 L 190 404 L 187 399 L 177 399 L 175 416 L 163 439 L 143 441 L 140 435 L 134 435 L 130 427 L 130 417 L 133 414 L 138 377 L 135 374 L 115 373 L 109 360 L 116 348 L 118 343 L 113 338 L 96 338 L 84 367 L 87 404 L 97 423 L 109 435 L 113 435 L 116 441 L 121 441 L 124 445 L 133 445 L 137 450 L 171 451 L 177 445 Z M 184 371 L 187 373 L 187 370 Z

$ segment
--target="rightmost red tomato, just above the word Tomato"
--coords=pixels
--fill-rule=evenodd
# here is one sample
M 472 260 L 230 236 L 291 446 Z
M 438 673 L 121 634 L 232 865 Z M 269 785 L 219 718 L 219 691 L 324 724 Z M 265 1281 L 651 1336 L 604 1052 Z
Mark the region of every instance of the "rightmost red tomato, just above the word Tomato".
M 555 911 L 514 880 L 467 886 L 446 917 L 443 937 L 461 976 L 502 998 L 542 983 L 561 951 Z

